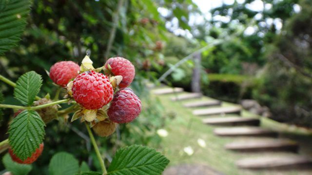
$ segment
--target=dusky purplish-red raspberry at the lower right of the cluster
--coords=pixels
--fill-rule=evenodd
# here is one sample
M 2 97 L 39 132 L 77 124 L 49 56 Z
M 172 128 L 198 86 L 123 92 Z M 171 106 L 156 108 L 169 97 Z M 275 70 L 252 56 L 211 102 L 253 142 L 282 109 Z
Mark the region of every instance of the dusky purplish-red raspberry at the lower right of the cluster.
M 116 123 L 129 123 L 141 112 L 141 101 L 131 88 L 119 90 L 107 111 L 109 119 Z

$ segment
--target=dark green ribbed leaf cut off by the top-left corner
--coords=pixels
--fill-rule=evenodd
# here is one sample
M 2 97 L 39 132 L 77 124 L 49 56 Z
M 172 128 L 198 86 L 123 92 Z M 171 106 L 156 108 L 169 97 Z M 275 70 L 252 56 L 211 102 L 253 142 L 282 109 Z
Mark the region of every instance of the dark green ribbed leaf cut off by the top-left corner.
M 0 55 L 20 41 L 30 4 L 30 0 L 0 0 Z

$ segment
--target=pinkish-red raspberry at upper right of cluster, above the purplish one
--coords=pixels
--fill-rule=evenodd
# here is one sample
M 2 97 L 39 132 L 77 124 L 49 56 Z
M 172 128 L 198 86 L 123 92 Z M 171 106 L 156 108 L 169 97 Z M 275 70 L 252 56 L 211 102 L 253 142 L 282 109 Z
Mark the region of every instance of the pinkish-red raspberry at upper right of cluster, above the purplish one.
M 122 57 L 114 57 L 107 60 L 105 63 L 106 69 L 109 69 L 108 64 L 112 68 L 111 72 L 114 75 L 122 76 L 119 88 L 126 88 L 132 83 L 135 78 L 136 70 L 129 60 Z

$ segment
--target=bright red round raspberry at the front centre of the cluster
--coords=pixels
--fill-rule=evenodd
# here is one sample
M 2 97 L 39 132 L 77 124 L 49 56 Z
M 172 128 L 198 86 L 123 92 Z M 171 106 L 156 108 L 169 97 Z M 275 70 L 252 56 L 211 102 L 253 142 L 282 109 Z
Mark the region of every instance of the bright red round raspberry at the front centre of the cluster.
M 102 73 L 85 71 L 73 81 L 73 97 L 86 109 L 99 109 L 113 99 L 113 87 Z

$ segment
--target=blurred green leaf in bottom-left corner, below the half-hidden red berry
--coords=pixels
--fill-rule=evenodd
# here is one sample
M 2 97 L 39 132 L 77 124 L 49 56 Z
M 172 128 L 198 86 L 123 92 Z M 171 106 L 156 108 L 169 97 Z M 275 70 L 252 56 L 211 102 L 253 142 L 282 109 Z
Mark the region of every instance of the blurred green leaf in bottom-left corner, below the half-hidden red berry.
M 5 169 L 11 172 L 12 175 L 27 175 L 32 169 L 32 165 L 20 164 L 13 161 L 9 154 L 6 154 L 2 158 L 2 162 Z

